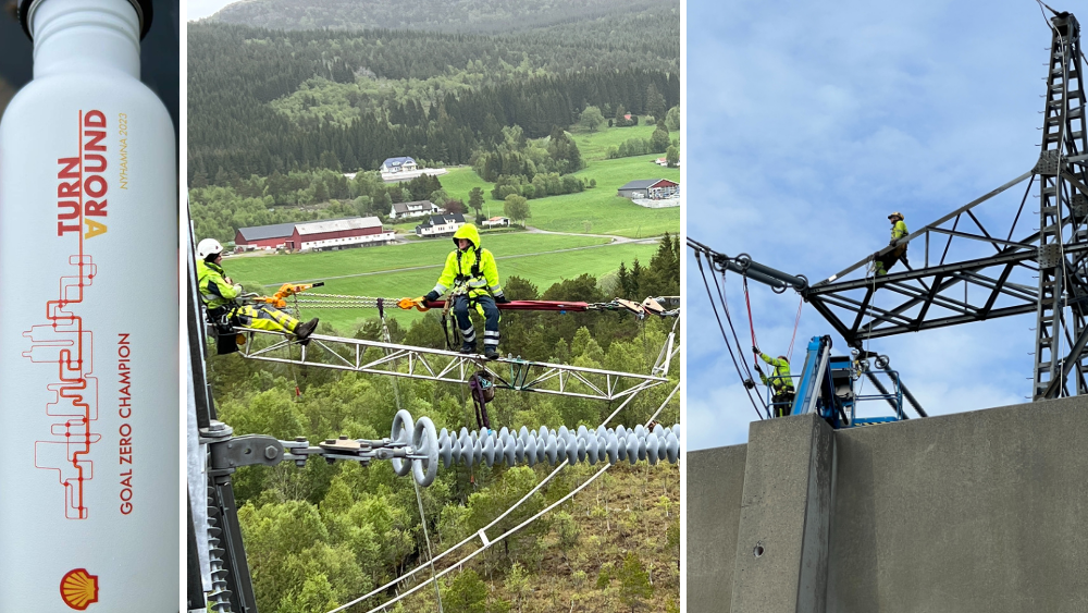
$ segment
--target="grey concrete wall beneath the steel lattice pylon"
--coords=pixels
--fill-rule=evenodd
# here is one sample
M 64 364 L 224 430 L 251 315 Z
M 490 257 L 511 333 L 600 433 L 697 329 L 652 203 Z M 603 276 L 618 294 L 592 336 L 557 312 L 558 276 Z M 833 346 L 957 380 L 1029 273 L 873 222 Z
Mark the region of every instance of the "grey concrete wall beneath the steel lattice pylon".
M 824 470 L 833 478 L 826 601 L 761 597 L 735 606 L 744 601 L 739 590 L 764 589 L 740 572 L 755 562 L 739 541 L 759 532 L 741 506 L 801 491 L 786 473 L 811 443 L 789 433 L 806 426 L 788 422 L 806 418 L 753 425 L 749 445 L 688 454 L 688 611 L 730 611 L 730 603 L 783 613 L 1088 611 L 1088 399 L 834 432 L 833 468 L 805 461 L 814 479 Z M 771 449 L 768 436 L 789 449 Z M 782 479 L 756 482 L 761 453 L 786 461 Z M 812 504 L 806 496 L 790 494 L 759 522 L 795 522 Z M 735 532 L 724 535 L 733 523 Z M 802 549 L 768 547 L 761 559 L 777 553 L 776 564 L 796 568 L 796 578 L 775 579 L 779 588 L 802 580 L 793 552 Z

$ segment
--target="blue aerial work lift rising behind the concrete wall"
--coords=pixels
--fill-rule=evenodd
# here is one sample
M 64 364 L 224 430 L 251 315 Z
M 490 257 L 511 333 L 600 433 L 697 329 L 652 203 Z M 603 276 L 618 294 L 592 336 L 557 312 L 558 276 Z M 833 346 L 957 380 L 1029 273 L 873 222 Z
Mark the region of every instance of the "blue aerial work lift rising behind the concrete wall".
M 877 370 L 869 369 L 868 358 L 876 360 Z M 903 410 L 904 399 L 915 412 L 926 417 L 925 410 L 918 405 L 911 392 L 899 380 L 899 372 L 888 368 L 886 356 L 869 352 L 854 351 L 851 357 L 831 355 L 830 336 L 813 336 L 808 343 L 805 364 L 801 375 L 793 376 L 796 394 L 792 400 L 790 415 L 816 413 L 833 428 L 853 428 L 888 421 L 907 419 Z M 891 380 L 891 389 L 887 388 L 878 375 Z M 862 377 L 865 377 L 876 389 L 874 393 L 863 394 Z M 769 391 L 769 388 L 768 388 Z M 866 401 L 885 401 L 892 409 L 892 415 L 881 417 L 858 417 L 857 405 Z M 771 410 L 788 403 L 769 403 Z

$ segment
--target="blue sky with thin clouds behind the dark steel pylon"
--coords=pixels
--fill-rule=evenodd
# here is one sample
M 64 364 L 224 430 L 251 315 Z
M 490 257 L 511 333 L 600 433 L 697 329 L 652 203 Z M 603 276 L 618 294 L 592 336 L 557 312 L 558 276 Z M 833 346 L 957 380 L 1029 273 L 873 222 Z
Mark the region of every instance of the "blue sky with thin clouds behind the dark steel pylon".
M 1038 158 L 1050 29 L 1034 1 L 689 0 L 687 23 L 688 235 L 719 252 L 824 279 L 887 244 L 889 212 L 915 230 Z M 685 279 L 688 449 L 745 442 L 755 412 L 690 249 Z M 738 281 L 727 294 L 747 346 Z M 762 348 L 784 353 L 800 297 L 755 285 L 751 298 Z M 870 350 L 930 415 L 980 409 L 1030 394 L 1034 326 Z M 808 339 L 830 333 L 806 305 L 795 369 Z

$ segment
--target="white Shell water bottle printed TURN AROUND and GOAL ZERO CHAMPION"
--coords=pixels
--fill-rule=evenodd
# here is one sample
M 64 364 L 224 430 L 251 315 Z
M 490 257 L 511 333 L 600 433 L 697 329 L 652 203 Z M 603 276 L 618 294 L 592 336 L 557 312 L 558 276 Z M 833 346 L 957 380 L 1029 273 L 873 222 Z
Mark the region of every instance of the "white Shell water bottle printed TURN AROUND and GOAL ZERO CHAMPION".
M 177 611 L 177 165 L 150 0 L 23 0 L 0 122 L 0 612 Z

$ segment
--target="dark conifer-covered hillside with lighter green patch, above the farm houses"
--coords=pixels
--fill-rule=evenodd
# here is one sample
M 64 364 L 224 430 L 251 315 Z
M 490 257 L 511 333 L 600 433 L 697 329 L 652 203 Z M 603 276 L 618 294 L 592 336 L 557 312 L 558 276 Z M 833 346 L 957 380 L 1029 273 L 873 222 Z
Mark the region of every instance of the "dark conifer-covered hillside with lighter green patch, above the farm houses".
M 589 106 L 645 114 L 659 97 L 675 107 L 679 14 L 643 26 L 622 35 L 584 26 L 570 40 L 553 28 L 478 36 L 194 24 L 188 179 L 374 170 L 393 155 L 469 163 L 505 126 L 535 138 Z

